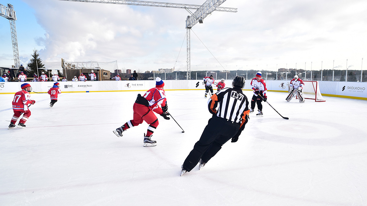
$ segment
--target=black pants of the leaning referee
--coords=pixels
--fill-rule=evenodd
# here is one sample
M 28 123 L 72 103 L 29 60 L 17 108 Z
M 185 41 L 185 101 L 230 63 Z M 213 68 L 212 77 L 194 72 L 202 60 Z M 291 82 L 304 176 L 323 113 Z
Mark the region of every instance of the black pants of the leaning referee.
M 199 163 L 199 160 L 208 162 L 222 148 L 222 145 L 232 139 L 240 129 L 240 125 L 227 119 L 213 116 L 209 119 L 199 141 L 186 157 L 182 168 L 190 172 Z

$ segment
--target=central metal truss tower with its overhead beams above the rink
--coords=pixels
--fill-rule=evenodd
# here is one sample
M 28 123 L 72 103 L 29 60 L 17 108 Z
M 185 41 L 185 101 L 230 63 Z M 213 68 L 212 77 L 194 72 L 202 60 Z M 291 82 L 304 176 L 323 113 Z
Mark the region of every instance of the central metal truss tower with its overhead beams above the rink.
M 184 8 L 191 16 L 186 18 L 186 50 L 187 50 L 187 61 L 186 79 L 191 79 L 191 61 L 190 61 L 190 29 L 197 23 L 203 23 L 203 19 L 207 17 L 213 11 L 226 11 L 226 12 L 237 12 L 237 8 L 219 7 L 226 0 L 207 0 L 203 5 L 193 4 L 177 4 L 177 3 L 163 3 L 154 1 L 134 1 L 134 0 L 60 0 L 60 1 L 80 1 L 80 2 L 91 2 L 91 3 L 105 3 L 105 4 L 124 4 L 124 5 L 138 5 L 138 6 L 150 6 L 150 7 L 167 7 L 167 8 Z M 196 10 L 191 12 L 190 9 Z

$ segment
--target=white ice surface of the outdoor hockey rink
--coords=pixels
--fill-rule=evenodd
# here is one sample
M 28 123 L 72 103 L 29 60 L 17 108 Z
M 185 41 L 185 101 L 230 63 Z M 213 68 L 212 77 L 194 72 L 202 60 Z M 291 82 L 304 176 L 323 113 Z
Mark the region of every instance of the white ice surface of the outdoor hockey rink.
M 32 93 L 27 127 L 10 130 L 14 95 L 1 95 L 0 205 L 367 205 L 365 100 L 300 104 L 268 92 L 289 120 L 263 102 L 264 117 L 251 114 L 236 143 L 180 177 L 211 117 L 208 99 L 203 90 L 166 91 L 185 133 L 157 115 L 157 146 L 143 147 L 145 122 L 123 137 L 112 132 L 132 119 L 138 93 L 61 93 L 52 108 L 47 93 Z

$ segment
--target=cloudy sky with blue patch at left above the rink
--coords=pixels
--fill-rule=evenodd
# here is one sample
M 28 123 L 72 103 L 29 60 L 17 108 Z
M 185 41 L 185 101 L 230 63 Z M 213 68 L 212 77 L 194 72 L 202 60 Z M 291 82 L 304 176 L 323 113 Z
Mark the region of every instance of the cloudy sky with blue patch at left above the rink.
M 17 12 L 23 65 L 37 49 L 44 62 L 117 60 L 122 70 L 186 71 L 185 20 L 190 14 L 184 9 L 0 0 L 8 3 Z M 367 1 L 227 0 L 221 7 L 238 12 L 214 11 L 192 27 L 192 71 L 366 70 Z M 0 66 L 14 64 L 13 58 L 10 25 L 0 18 Z

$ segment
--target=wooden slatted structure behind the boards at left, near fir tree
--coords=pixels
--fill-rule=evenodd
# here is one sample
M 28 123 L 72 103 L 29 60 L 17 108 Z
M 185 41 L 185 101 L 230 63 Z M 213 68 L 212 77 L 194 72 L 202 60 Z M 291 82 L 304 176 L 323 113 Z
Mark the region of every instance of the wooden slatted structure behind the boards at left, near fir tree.
M 111 72 L 109 70 L 104 70 L 99 67 L 79 67 L 73 63 L 65 62 L 64 59 L 61 59 L 61 65 L 62 65 L 62 74 L 64 77 L 66 77 L 68 81 L 71 81 L 74 78 L 74 76 L 79 78 L 81 73 L 83 73 L 87 77 L 87 80 L 89 81 L 90 76 L 88 74 L 90 74 L 92 70 L 97 76 L 96 81 L 110 80 Z

